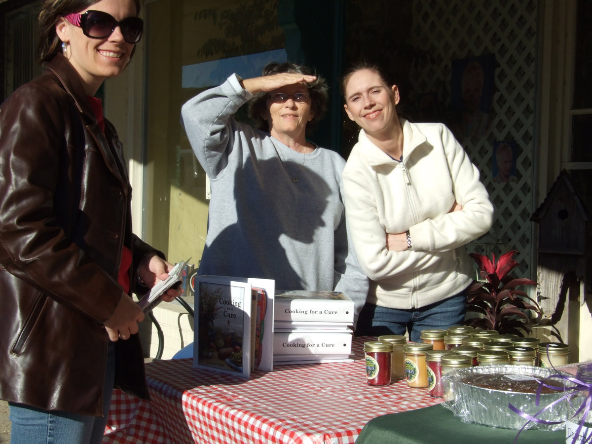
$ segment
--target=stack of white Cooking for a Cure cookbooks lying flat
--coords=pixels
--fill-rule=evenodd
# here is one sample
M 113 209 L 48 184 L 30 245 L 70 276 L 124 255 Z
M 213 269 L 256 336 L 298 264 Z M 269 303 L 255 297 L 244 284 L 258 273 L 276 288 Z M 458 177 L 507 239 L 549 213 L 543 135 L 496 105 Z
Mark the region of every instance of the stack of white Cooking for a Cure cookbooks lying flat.
M 339 291 L 276 291 L 274 364 L 352 361 L 353 301 Z

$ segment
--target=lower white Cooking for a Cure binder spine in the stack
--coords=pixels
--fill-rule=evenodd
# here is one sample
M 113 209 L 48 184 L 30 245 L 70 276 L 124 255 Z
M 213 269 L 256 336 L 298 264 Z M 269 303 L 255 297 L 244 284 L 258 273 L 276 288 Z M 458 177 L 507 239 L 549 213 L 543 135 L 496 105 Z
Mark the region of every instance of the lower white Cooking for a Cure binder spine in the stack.
M 351 333 L 274 333 L 274 355 L 348 355 Z

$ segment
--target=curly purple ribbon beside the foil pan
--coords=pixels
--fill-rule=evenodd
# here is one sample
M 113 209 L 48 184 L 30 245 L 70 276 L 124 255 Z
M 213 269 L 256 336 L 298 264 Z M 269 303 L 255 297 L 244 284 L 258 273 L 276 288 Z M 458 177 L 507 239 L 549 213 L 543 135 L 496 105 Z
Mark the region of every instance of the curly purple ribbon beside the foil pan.
M 575 444 L 576 440 L 578 439 L 578 436 L 580 435 L 580 432 L 582 430 L 582 428 L 584 427 L 584 422 L 586 417 L 588 416 L 588 413 L 590 413 L 590 406 L 592 405 L 592 383 L 590 382 L 584 382 L 584 381 L 580 381 L 580 379 L 577 379 L 575 377 L 568 377 L 568 376 L 564 376 L 562 374 L 559 373 L 558 369 L 555 368 L 555 366 L 553 365 L 553 363 L 551 362 L 551 359 L 549 359 L 549 346 L 547 346 L 547 358 L 549 363 L 551 363 L 551 367 L 557 372 L 556 374 L 552 374 L 549 375 L 548 377 L 546 377 L 545 379 L 543 379 L 543 381 L 538 381 L 539 382 L 539 387 L 536 389 L 536 406 L 539 407 L 539 403 L 540 403 L 540 394 L 543 390 L 543 387 L 547 387 L 547 388 L 551 388 L 552 390 L 556 390 L 556 391 L 563 391 L 564 395 L 559 398 L 556 401 L 553 401 L 551 404 L 549 404 L 548 406 L 546 406 L 545 408 L 542 408 L 541 410 L 539 410 L 537 413 L 535 413 L 534 415 L 529 415 L 526 412 L 520 410 L 517 407 L 514 407 L 512 404 L 508 404 L 508 407 L 510 408 L 511 411 L 513 411 L 514 413 L 519 414 L 520 416 L 522 416 L 523 418 L 527 419 L 528 421 L 522 426 L 522 429 L 520 429 L 520 431 L 518 432 L 518 434 L 516 435 L 516 438 L 514 438 L 514 443 L 516 443 L 516 440 L 518 439 L 518 436 L 520 435 L 520 433 L 522 433 L 523 430 L 525 430 L 526 426 L 528 425 L 528 423 L 530 422 L 534 422 L 534 423 L 538 423 L 538 424 L 561 424 L 564 423 L 565 421 L 545 421 L 542 419 L 537 418 L 537 416 L 539 416 L 539 414 L 543 413 L 543 411 L 547 410 L 548 408 L 551 408 L 553 406 L 555 406 L 555 404 L 561 403 L 561 401 L 563 400 L 567 400 L 567 402 L 571 404 L 571 397 L 581 391 L 581 392 L 588 392 L 587 397 L 585 398 L 585 401 L 581 404 L 580 407 L 578 407 L 577 411 L 569 418 L 572 419 L 573 417 L 577 416 L 578 414 L 581 413 L 581 411 L 584 411 L 584 414 L 582 416 L 582 419 L 580 421 L 580 424 L 578 424 L 578 429 L 575 431 L 574 433 L 574 438 L 572 439 L 572 444 Z M 549 381 L 550 379 L 563 379 L 564 381 L 569 381 L 572 382 L 574 385 L 571 385 L 570 387 L 565 387 L 565 384 L 563 385 L 551 385 L 548 384 L 545 381 Z M 572 406 L 573 407 L 573 406 Z M 581 442 L 581 444 L 585 444 L 587 442 L 592 443 L 592 435 L 585 437 L 585 439 Z

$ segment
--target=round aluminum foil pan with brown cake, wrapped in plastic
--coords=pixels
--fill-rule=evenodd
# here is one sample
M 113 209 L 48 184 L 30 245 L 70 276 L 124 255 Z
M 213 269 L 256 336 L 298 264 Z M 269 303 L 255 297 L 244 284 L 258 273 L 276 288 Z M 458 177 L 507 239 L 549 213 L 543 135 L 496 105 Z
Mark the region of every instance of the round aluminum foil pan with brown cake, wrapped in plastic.
M 486 365 L 474 366 L 449 372 L 442 377 L 444 400 L 442 404 L 465 423 L 484 424 L 503 429 L 522 429 L 527 419 L 510 410 L 509 404 L 526 414 L 535 416 L 544 407 L 564 396 L 564 391 L 547 390 L 540 395 L 536 406 L 538 381 L 553 374 L 572 376 L 556 372 L 552 368 L 530 365 Z M 552 385 L 562 385 L 563 380 L 553 378 Z M 475 385 L 479 384 L 479 385 Z M 573 384 L 565 381 L 566 387 Z M 562 421 L 575 413 L 567 400 L 536 416 L 546 421 Z M 530 422 L 526 429 L 563 430 L 565 424 L 539 424 Z

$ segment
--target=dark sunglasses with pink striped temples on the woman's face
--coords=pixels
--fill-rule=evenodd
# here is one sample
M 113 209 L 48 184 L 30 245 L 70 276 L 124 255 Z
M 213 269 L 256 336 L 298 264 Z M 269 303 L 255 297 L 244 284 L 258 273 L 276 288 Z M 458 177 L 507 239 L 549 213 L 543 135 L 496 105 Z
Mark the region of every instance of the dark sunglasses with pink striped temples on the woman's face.
M 111 14 L 103 11 L 67 14 L 64 18 L 73 25 L 81 27 L 84 35 L 91 38 L 107 38 L 115 28 L 120 27 L 124 40 L 133 44 L 140 41 L 144 28 L 144 21 L 140 17 L 127 17 L 117 21 Z

